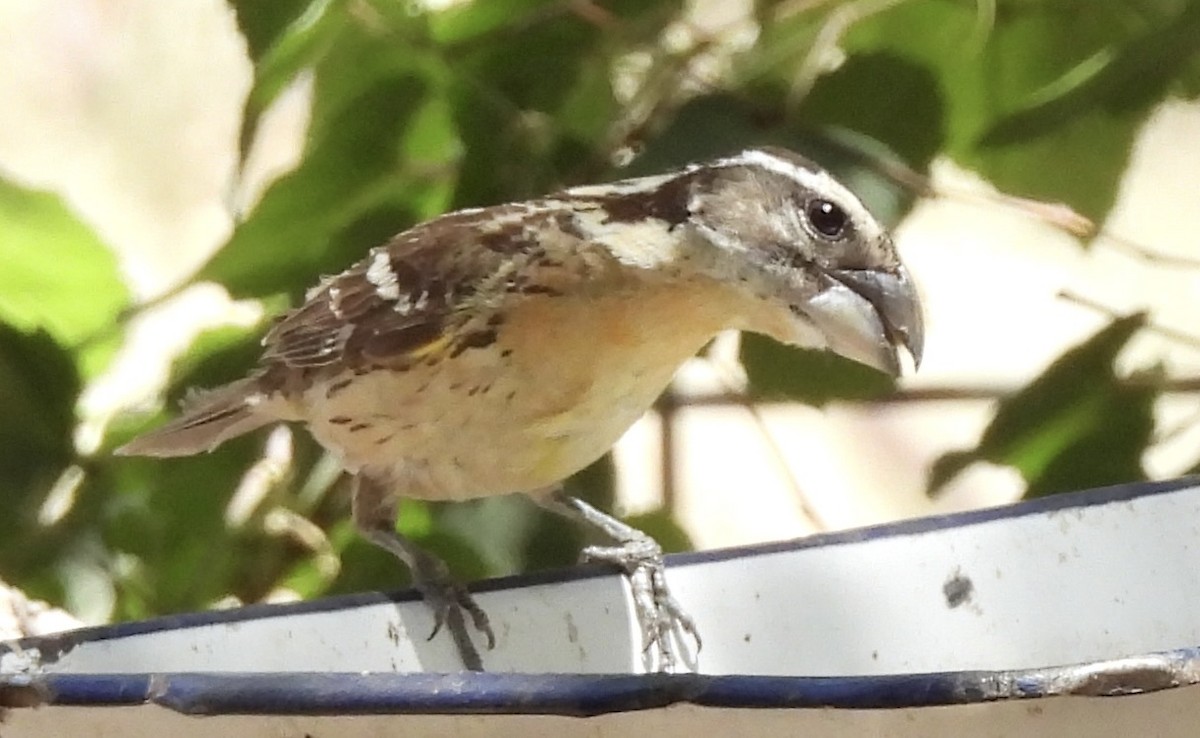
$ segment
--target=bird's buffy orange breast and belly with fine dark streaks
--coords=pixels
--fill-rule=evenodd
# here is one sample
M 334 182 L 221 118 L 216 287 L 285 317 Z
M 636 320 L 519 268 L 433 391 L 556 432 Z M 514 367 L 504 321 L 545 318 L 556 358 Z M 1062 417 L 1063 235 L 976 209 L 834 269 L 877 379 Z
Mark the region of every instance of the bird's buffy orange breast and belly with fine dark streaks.
M 313 434 L 352 472 L 389 469 L 412 497 L 546 487 L 604 455 L 736 314 L 700 294 L 524 300 L 486 347 L 313 386 Z

